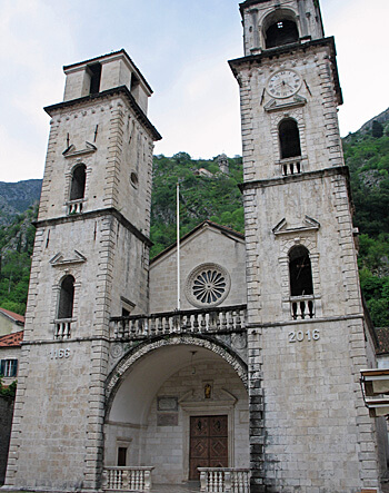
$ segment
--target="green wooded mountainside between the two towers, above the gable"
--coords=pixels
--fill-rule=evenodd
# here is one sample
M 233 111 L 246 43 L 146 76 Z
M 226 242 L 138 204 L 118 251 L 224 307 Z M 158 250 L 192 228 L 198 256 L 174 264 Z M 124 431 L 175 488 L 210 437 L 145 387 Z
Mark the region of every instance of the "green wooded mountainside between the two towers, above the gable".
M 227 158 L 229 174 L 218 158 L 193 160 L 187 152 L 156 156 L 151 204 L 151 257 L 176 241 L 176 195 L 180 184 L 181 236 L 210 219 L 245 233 L 243 204 L 238 185 L 243 179 L 241 157 Z

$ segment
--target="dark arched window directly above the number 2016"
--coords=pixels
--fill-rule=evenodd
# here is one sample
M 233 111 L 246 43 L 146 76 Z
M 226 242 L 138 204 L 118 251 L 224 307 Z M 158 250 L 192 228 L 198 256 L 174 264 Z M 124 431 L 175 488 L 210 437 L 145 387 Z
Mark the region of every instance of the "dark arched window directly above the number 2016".
M 293 247 L 289 252 L 289 277 L 291 296 L 309 296 L 313 294 L 309 252 L 301 245 Z

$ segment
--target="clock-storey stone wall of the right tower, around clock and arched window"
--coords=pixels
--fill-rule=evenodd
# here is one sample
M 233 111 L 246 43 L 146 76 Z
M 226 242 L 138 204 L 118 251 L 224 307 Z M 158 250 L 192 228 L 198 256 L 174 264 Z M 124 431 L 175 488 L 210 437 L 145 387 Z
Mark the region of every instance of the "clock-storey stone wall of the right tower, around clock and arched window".
M 290 50 L 276 60 L 263 57 L 253 65 L 239 62 L 245 181 L 282 176 L 278 125 L 283 118 L 298 124 L 302 171 L 343 164 L 331 57 L 331 43 L 325 41 L 305 52 Z M 269 78 L 282 69 L 299 75 L 299 99 L 276 101 L 267 92 Z

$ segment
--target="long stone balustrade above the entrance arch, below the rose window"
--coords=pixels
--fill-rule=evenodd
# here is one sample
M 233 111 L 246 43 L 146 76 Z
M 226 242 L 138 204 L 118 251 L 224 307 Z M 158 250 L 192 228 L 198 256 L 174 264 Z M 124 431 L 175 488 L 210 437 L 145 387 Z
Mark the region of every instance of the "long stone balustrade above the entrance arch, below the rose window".
M 112 317 L 110 335 L 114 339 L 129 339 L 181 333 L 241 332 L 246 328 L 246 305 L 215 307 Z

